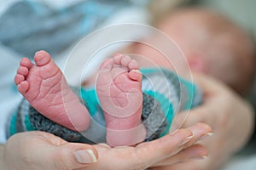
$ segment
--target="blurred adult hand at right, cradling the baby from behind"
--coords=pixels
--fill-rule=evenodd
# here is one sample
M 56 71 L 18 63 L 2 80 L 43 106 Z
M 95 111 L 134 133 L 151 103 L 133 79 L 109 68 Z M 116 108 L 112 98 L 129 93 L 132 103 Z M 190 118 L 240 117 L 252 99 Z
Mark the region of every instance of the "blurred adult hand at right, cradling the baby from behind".
M 154 165 L 158 166 L 157 169 L 218 169 L 247 143 L 253 131 L 253 110 L 244 99 L 225 87 L 222 82 L 202 75 L 194 77 L 203 90 L 204 101 L 201 106 L 189 112 L 183 127 L 197 122 L 204 122 L 212 127 L 214 135 L 200 143 L 206 146 L 209 156 L 204 160 L 177 163 L 170 167 L 163 166 L 166 161 L 161 161 Z

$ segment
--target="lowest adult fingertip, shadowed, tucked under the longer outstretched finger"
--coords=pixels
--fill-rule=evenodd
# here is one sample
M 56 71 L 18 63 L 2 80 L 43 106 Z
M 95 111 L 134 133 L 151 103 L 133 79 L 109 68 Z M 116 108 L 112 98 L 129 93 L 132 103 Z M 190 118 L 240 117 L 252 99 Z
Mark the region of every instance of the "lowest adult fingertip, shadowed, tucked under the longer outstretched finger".
M 201 144 L 194 144 L 189 148 L 181 150 L 175 156 L 171 156 L 164 161 L 161 161 L 154 165 L 159 169 L 160 167 L 171 166 L 177 162 L 190 161 L 190 160 L 200 160 L 205 159 L 208 156 L 208 151 Z

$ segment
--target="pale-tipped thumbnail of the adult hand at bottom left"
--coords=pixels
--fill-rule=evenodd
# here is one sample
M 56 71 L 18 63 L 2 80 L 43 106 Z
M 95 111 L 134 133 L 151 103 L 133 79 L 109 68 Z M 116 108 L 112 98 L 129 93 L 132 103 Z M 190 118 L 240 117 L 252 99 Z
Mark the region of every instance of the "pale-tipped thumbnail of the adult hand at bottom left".
M 92 150 L 76 150 L 74 157 L 79 163 L 95 163 L 97 161 L 96 156 Z

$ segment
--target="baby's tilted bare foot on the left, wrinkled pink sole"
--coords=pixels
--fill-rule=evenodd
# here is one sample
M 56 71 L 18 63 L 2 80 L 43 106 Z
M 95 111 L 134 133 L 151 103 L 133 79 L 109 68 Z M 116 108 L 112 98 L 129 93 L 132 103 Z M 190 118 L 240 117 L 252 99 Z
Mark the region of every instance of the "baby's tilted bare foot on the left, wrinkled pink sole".
M 76 131 L 90 125 L 87 109 L 68 87 L 61 70 L 45 51 L 38 51 L 35 65 L 30 59 L 20 61 L 15 84 L 24 98 L 42 115 Z

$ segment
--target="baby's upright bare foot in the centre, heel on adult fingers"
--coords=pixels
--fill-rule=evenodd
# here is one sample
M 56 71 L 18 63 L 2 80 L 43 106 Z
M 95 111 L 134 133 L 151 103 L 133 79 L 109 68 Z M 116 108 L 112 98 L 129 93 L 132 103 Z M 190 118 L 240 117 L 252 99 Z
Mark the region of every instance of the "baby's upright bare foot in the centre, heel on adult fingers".
M 117 54 L 102 63 L 96 79 L 96 92 L 107 127 L 109 145 L 132 145 L 145 139 L 141 124 L 142 74 L 137 61 Z

